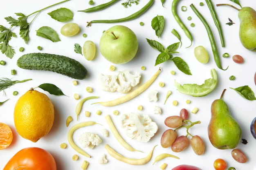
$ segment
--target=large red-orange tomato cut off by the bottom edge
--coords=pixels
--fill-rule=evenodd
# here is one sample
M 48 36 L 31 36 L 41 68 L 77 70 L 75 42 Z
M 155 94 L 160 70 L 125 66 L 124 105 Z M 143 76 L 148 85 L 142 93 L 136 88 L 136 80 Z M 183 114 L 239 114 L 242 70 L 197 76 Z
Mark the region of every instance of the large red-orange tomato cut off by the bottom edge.
M 20 168 L 19 168 L 20 167 Z M 3 170 L 56 170 L 54 157 L 44 149 L 30 147 L 17 152 Z

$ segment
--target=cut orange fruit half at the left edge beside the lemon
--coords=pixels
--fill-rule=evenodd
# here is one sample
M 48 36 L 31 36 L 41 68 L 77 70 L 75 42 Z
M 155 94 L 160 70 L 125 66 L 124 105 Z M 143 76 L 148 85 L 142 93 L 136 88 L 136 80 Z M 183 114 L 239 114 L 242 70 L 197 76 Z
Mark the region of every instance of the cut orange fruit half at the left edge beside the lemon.
M 12 141 L 13 134 L 11 128 L 4 123 L 0 123 L 0 150 L 7 148 Z

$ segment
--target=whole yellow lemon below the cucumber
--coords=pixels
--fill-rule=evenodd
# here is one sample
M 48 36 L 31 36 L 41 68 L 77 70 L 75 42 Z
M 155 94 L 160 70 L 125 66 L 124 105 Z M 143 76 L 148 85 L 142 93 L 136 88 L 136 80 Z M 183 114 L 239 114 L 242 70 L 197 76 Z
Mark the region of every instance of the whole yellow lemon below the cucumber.
M 13 117 L 18 134 L 36 142 L 51 130 L 54 106 L 47 95 L 31 88 L 18 99 Z

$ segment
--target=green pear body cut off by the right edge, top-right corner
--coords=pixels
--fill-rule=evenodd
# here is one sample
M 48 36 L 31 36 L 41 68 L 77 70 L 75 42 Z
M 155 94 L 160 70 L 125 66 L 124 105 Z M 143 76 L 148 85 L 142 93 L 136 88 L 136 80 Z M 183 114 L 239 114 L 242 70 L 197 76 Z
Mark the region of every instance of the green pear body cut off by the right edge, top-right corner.
M 246 49 L 256 50 L 256 11 L 251 7 L 243 7 L 238 12 L 238 18 L 240 42 Z

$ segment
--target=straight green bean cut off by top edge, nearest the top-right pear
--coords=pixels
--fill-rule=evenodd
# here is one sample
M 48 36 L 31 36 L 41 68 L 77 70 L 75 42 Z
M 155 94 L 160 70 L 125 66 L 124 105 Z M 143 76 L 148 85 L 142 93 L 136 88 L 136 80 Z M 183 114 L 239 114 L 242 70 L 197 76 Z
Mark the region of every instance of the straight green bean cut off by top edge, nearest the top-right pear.
M 220 35 L 220 42 L 221 42 L 221 45 L 222 47 L 225 46 L 225 41 L 224 41 L 224 36 L 223 36 L 223 33 L 222 33 L 222 28 L 221 28 L 221 24 L 220 24 L 220 21 L 218 19 L 218 15 L 213 7 L 213 4 L 211 2 L 211 0 L 205 0 L 205 2 L 207 3 L 207 6 L 211 12 L 211 16 L 213 18 L 213 21 L 218 29 L 218 32 L 219 32 L 219 35 Z

